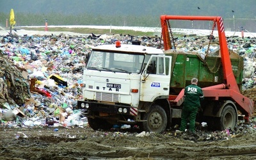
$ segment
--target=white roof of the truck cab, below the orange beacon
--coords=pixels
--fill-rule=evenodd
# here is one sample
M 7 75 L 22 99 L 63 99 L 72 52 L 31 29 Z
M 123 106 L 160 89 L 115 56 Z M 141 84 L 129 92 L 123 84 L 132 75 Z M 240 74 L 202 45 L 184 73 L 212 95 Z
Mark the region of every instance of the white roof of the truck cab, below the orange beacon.
M 98 45 L 93 47 L 93 50 L 97 51 L 116 51 L 116 52 L 134 52 L 143 54 L 164 54 L 161 49 L 154 47 L 147 47 L 143 45 L 121 44 L 120 47 L 116 47 L 115 44 Z

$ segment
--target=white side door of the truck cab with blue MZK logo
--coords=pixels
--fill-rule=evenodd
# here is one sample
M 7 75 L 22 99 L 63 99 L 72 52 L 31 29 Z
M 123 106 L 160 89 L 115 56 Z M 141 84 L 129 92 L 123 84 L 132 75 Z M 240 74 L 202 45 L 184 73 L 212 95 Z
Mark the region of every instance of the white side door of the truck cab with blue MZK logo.
M 153 102 L 157 97 L 169 95 L 171 62 L 171 56 L 150 57 L 141 74 L 141 101 Z

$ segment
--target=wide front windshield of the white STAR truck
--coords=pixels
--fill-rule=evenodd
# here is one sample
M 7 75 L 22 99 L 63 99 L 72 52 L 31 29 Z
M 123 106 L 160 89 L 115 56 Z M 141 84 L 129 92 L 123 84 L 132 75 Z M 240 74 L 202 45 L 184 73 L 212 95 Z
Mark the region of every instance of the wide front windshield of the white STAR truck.
M 92 51 L 86 68 L 109 72 L 140 73 L 145 55 Z

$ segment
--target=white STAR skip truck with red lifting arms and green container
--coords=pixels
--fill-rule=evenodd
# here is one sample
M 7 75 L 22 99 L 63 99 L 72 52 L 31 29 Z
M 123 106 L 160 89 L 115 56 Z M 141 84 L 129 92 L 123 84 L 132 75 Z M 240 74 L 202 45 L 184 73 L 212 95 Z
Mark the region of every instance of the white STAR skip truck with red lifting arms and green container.
M 212 21 L 220 51 L 204 58 L 176 51 L 169 20 Z M 254 102 L 241 94 L 243 58 L 228 51 L 223 19 L 161 15 L 161 28 L 164 49 L 120 41 L 93 47 L 83 73 L 83 99 L 77 101 L 90 127 L 107 130 L 127 124 L 141 131 L 164 132 L 179 122 L 184 88 L 193 77 L 205 97 L 196 122 L 218 130 L 234 129 L 239 118 L 248 122 Z

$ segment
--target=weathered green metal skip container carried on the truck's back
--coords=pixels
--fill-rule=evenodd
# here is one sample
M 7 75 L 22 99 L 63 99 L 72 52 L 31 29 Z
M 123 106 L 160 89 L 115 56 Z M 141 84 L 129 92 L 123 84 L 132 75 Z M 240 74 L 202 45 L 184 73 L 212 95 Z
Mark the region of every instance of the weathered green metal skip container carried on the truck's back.
M 166 56 L 172 56 L 172 77 L 170 81 L 170 94 L 172 95 L 179 94 L 183 88 L 191 84 L 193 77 L 198 79 L 198 86 L 201 88 L 225 83 L 220 54 L 205 56 L 204 59 L 195 53 L 165 52 L 165 54 Z M 230 60 L 234 76 L 241 91 L 243 58 L 236 52 L 230 51 Z

